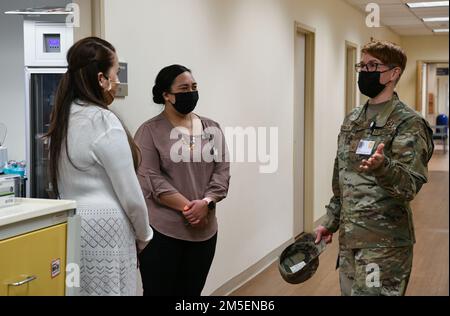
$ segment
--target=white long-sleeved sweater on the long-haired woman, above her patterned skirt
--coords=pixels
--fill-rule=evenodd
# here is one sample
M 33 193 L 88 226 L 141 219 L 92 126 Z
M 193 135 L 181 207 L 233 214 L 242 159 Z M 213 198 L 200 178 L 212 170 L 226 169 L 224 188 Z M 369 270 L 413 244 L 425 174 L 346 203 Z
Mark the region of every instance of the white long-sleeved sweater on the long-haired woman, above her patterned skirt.
M 71 107 L 67 144 L 63 149 L 58 187 L 61 198 L 83 209 L 125 212 L 140 247 L 153 236 L 130 146 L 119 119 L 97 106 Z

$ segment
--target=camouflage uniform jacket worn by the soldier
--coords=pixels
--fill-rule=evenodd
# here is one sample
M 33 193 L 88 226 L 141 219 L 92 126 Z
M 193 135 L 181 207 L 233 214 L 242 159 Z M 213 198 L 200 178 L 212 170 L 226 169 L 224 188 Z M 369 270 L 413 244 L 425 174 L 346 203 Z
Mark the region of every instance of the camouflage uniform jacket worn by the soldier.
M 427 121 L 395 94 L 375 118 L 366 120 L 368 104 L 356 108 L 341 126 L 333 173 L 333 197 L 322 224 L 339 231 L 348 248 L 402 247 L 415 243 L 409 202 L 428 179 L 434 150 Z M 374 172 L 359 171 L 360 140 L 384 143 L 385 163 Z

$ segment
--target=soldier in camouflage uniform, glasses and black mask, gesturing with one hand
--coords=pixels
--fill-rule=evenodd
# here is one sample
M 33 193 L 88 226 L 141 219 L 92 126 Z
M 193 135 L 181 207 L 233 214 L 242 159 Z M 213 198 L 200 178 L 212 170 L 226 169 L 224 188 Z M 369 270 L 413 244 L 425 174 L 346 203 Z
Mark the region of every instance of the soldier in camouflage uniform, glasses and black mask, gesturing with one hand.
M 427 121 L 394 92 L 406 67 L 403 50 L 372 42 L 357 65 L 370 99 L 341 126 L 333 197 L 317 240 L 339 229 L 342 295 L 404 295 L 415 243 L 409 202 L 427 182 L 434 145 Z

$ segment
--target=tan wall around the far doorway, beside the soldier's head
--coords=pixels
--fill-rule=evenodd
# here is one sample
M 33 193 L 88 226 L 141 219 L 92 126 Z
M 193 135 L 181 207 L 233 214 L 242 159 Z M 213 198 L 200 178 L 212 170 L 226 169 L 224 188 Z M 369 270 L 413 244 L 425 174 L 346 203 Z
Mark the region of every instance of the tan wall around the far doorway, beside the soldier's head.
M 408 64 L 398 91 L 401 99 L 415 108 L 417 61 L 448 61 L 448 35 L 406 36 L 401 45 L 408 55 Z

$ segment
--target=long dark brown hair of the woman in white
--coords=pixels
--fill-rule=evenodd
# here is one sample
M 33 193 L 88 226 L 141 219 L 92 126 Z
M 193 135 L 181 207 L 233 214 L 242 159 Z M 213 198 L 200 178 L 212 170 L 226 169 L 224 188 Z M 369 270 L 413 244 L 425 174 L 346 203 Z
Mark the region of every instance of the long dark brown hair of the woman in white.
M 115 53 L 115 48 L 109 42 L 97 37 L 88 37 L 78 41 L 67 53 L 68 71 L 59 82 L 50 118 L 50 128 L 45 135 L 50 139 L 48 171 L 56 198 L 59 198 L 59 160 L 63 145 L 70 163 L 77 168 L 69 157 L 67 145 L 71 105 L 75 100 L 80 100 L 83 103 L 108 109 L 103 88 L 98 83 L 98 73 L 107 76 L 108 71 L 114 65 Z M 125 126 L 123 127 L 127 133 L 134 167 L 137 169 L 140 161 L 139 148 Z

